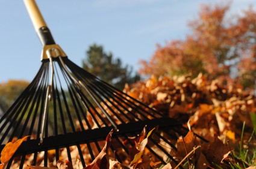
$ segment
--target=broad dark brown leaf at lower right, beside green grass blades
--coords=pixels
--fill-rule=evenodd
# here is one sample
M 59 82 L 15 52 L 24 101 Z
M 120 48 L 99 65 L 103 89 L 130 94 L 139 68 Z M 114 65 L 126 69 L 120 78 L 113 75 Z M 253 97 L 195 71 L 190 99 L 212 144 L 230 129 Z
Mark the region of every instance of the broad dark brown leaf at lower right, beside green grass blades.
M 220 164 L 228 156 L 230 150 L 219 138 L 215 137 L 212 143 L 202 144 L 202 152 L 208 161 Z

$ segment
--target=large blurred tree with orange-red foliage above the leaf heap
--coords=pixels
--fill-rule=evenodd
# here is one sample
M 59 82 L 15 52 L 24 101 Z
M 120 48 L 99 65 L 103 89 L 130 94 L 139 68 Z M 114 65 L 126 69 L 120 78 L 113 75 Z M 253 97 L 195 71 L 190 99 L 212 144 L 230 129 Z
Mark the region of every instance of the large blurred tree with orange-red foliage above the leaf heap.
M 256 11 L 227 18 L 230 4 L 202 5 L 189 22 L 192 34 L 157 46 L 150 61 L 141 61 L 142 74 L 170 76 L 204 73 L 220 82 L 254 87 L 256 76 Z

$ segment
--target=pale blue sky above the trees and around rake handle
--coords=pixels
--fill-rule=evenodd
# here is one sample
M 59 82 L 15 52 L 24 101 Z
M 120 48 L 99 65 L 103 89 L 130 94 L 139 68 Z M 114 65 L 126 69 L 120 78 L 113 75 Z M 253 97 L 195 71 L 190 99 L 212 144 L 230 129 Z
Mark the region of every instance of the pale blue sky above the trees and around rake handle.
M 153 55 L 155 44 L 182 39 L 187 21 L 199 5 L 212 0 L 37 0 L 55 42 L 70 60 L 81 65 L 93 43 L 137 70 L 140 59 Z M 233 0 L 230 15 L 255 0 Z M 42 46 L 23 1 L 0 0 L 0 83 L 9 79 L 31 81 L 36 75 Z

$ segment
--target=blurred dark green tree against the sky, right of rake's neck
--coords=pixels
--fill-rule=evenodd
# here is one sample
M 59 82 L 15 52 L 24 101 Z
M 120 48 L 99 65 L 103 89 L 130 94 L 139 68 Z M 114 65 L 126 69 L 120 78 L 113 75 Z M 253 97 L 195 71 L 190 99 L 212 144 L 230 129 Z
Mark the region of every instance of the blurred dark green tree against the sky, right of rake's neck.
M 87 50 L 83 68 L 118 89 L 123 89 L 125 83 L 134 83 L 140 79 L 139 74 L 133 76 L 132 67 L 123 67 L 119 58 L 114 59 L 111 52 L 106 53 L 103 46 L 97 44 L 93 44 Z

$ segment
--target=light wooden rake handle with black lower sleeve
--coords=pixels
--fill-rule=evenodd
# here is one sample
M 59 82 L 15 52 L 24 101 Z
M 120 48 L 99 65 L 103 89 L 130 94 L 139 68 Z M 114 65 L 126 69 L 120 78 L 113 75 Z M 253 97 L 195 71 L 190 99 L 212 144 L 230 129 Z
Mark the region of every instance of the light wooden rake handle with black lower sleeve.
M 47 27 L 39 8 L 37 7 L 36 1 L 34 0 L 23 0 L 27 8 L 30 19 L 34 25 L 34 29 L 43 46 L 55 44 L 54 38 Z

